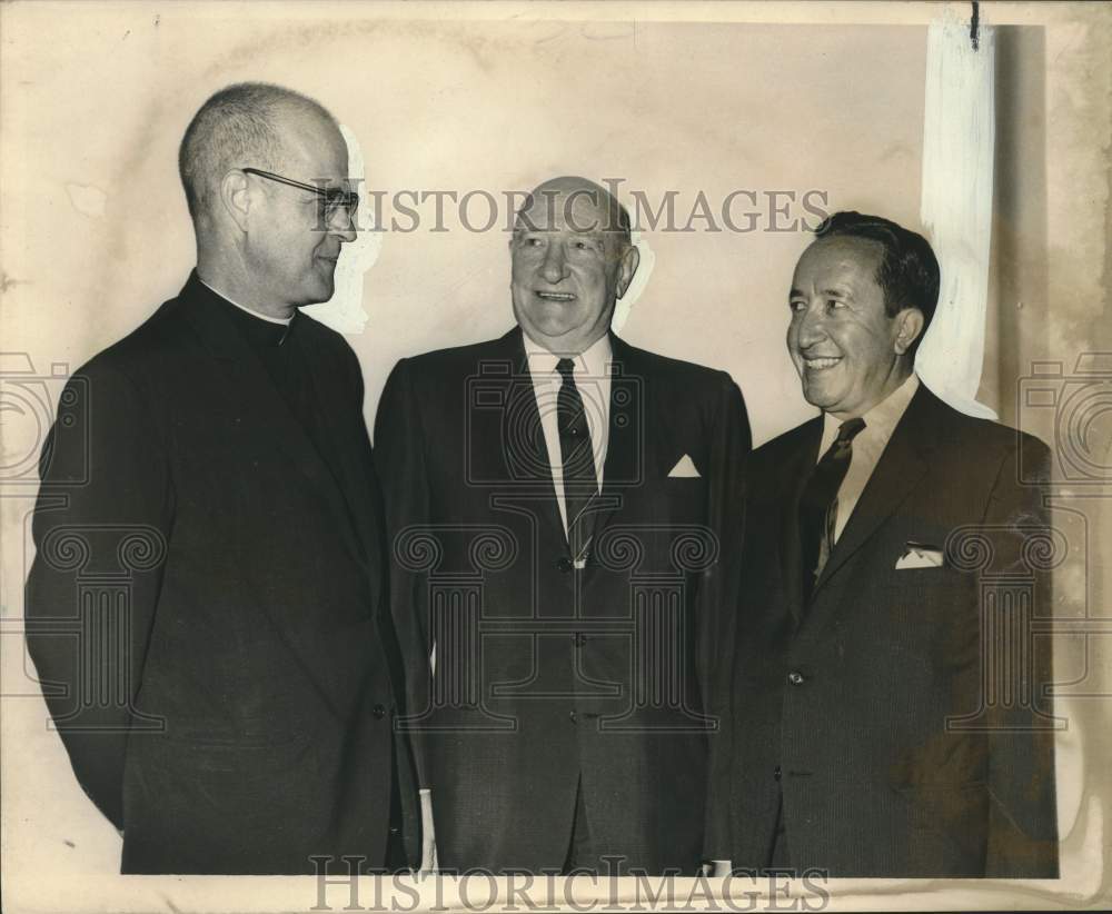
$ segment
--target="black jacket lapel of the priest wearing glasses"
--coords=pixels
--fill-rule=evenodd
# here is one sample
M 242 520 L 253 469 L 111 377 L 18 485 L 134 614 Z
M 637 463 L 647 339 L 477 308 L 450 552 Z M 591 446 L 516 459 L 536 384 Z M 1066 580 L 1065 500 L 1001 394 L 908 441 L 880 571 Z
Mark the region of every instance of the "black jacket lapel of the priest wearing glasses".
M 234 306 L 203 286 L 196 275 L 190 277 L 180 298 L 187 321 L 225 374 L 226 408 L 250 424 L 261 441 L 260 453 L 284 456 L 291 470 L 314 487 L 337 518 L 337 529 L 351 555 L 365 565 L 366 555 L 336 477 L 301 424 L 294 418 L 258 356 L 224 314 L 225 308 Z

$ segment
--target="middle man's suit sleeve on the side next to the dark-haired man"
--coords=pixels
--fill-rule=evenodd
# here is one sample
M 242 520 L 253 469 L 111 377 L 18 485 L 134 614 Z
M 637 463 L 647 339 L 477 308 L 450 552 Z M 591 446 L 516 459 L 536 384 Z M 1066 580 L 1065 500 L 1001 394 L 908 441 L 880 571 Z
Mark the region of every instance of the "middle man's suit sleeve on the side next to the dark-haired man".
M 718 539 L 718 560 L 699 589 L 699 685 L 707 713 L 717 721 L 711 733 L 707 773 L 705 860 L 729 856 L 731 677 L 742 538 L 745 530 L 744 471 L 752 436 L 742 391 L 724 376 L 711 428 L 708 525 Z

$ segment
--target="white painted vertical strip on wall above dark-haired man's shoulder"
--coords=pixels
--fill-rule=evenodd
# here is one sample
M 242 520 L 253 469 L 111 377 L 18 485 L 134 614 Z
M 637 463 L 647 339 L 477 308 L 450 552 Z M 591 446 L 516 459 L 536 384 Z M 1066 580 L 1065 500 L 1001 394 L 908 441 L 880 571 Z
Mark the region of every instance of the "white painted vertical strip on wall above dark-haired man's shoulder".
M 942 268 L 939 309 L 915 368 L 955 409 L 995 418 L 976 401 L 984 361 L 992 237 L 994 33 L 947 14 L 927 30 L 920 215 Z

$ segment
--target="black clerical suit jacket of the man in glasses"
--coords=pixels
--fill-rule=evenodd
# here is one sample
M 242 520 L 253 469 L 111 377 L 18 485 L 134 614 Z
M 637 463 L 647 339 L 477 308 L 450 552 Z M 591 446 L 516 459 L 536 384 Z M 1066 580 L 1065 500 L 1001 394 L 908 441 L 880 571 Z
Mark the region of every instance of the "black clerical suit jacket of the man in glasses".
M 123 872 L 379 866 L 398 655 L 358 362 L 296 318 L 325 460 L 230 307 L 192 276 L 68 385 L 28 645 Z

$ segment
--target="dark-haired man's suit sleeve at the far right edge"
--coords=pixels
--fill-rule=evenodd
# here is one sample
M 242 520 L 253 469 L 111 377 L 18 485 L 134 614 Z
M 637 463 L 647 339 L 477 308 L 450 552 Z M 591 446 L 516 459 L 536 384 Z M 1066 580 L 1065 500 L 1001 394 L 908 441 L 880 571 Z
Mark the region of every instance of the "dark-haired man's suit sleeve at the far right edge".
M 1050 518 L 1043 495 L 1050 480 L 1046 446 L 1023 436 L 1000 467 L 985 516 L 995 550 L 995 569 L 1034 575 L 1032 618 L 1052 617 L 1053 587 L 1045 531 Z M 1029 481 L 1021 483 L 1021 465 Z M 1036 468 L 1031 481 L 1031 468 Z M 984 612 L 982 607 L 982 612 Z M 1053 645 L 1049 634 L 993 626 L 996 638 L 1021 643 L 982 645 L 982 650 L 1007 652 L 1022 658 L 1030 649 L 1030 682 L 1019 682 L 1019 699 L 990 706 L 989 789 L 990 836 L 987 876 L 1054 878 L 1058 876 L 1058 815 L 1054 786 L 1054 729 L 1049 695 Z M 1013 653 L 1014 652 L 1014 653 Z M 1023 675 L 1022 672 L 1020 675 Z

